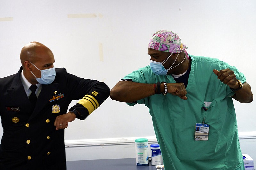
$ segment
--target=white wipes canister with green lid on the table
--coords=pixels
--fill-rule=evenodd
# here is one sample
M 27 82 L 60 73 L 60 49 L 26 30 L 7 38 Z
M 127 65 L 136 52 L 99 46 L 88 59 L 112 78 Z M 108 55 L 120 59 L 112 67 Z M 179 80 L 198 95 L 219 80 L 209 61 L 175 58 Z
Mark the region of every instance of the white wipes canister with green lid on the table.
M 149 163 L 148 160 L 148 139 L 136 139 L 135 140 L 136 151 L 136 165 L 146 166 Z

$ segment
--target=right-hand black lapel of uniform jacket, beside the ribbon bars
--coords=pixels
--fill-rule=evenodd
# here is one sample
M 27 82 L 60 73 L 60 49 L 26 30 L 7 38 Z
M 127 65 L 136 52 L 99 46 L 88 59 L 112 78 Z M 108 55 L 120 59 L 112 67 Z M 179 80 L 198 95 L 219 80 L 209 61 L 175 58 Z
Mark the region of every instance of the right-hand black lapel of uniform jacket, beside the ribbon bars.
M 40 111 L 45 107 L 47 103 L 49 103 L 51 97 L 54 95 L 58 87 L 58 83 L 51 83 L 49 85 L 42 85 L 42 90 L 37 98 L 35 109 L 30 116 L 29 120 L 34 118 Z

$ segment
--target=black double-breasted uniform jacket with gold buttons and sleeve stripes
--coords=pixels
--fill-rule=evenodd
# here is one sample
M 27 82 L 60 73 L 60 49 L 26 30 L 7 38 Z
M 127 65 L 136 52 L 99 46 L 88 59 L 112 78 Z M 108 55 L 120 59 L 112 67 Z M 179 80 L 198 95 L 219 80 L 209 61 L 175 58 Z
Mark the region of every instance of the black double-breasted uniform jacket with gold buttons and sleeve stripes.
M 108 86 L 97 80 L 78 78 L 56 70 L 55 80 L 42 85 L 35 109 L 25 93 L 20 74 L 0 79 L 0 114 L 4 133 L 0 145 L 0 169 L 66 169 L 64 129 L 56 130 L 55 118 L 71 107 L 84 120 L 109 96 Z

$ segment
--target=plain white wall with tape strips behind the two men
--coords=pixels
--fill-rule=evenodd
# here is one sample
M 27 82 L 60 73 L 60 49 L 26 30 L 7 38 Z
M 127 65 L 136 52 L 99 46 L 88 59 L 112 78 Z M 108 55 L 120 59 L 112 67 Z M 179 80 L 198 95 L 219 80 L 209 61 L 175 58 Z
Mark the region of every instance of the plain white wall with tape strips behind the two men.
M 21 66 L 21 48 L 39 41 L 54 53 L 55 67 L 104 81 L 112 88 L 126 74 L 149 64 L 149 38 L 160 29 L 169 29 L 180 36 L 189 54 L 236 66 L 255 94 L 255 8 L 254 0 L 1 0 L 0 77 L 15 74 Z M 255 100 L 235 101 L 235 108 L 239 132 L 255 139 Z M 145 106 L 129 107 L 110 98 L 86 120 L 69 123 L 65 132 L 66 144 L 71 146 L 76 141 L 81 146 L 90 141 L 114 141 L 115 145 L 154 136 Z M 255 148 L 255 140 L 249 143 L 241 144 L 242 152 L 256 159 L 249 149 Z M 76 154 L 75 147 L 71 148 L 67 153 Z

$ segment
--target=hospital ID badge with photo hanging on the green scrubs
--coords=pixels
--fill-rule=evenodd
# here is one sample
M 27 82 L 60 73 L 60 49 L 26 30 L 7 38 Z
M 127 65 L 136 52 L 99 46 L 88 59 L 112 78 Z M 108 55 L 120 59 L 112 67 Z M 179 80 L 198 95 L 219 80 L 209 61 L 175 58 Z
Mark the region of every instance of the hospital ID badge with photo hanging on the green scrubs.
M 195 141 L 207 141 L 209 136 L 208 124 L 196 123 L 195 125 Z

